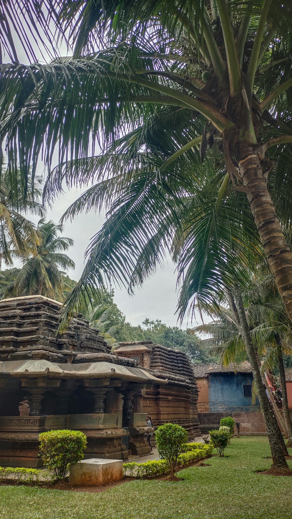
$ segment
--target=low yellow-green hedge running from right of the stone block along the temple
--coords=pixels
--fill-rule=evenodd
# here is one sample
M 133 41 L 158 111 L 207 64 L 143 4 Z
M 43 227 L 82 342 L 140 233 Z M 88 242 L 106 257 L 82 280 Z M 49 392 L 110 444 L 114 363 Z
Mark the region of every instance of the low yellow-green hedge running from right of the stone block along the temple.
M 191 446 L 195 448 L 191 448 Z M 199 445 L 199 447 L 197 447 Z M 184 452 L 178 456 L 177 465 L 179 468 L 185 467 L 197 461 L 198 459 L 207 458 L 213 453 L 213 445 L 204 445 L 203 443 L 188 443 L 184 445 Z M 130 472 L 130 477 L 137 477 L 138 479 L 156 477 L 169 472 L 169 467 L 164 459 L 149 460 L 145 463 L 136 463 L 131 461 L 130 463 L 124 463 L 124 476 L 126 472 Z

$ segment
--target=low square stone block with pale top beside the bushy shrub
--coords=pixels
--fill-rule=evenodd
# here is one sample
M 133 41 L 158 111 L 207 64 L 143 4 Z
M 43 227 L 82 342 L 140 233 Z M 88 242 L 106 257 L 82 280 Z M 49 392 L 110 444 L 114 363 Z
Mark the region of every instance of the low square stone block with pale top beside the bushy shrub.
M 121 459 L 83 459 L 70 469 L 69 483 L 82 486 L 109 485 L 123 479 Z

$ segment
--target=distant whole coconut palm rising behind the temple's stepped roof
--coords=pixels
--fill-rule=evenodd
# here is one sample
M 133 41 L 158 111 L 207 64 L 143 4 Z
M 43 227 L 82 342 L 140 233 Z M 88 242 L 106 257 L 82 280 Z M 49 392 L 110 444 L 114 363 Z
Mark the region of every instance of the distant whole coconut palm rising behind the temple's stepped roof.
M 64 272 L 60 268 L 75 268 L 74 262 L 63 252 L 74 242 L 71 238 L 59 236 L 62 225 L 51 220 L 45 222 L 42 218 L 36 231 L 39 244 L 36 251 L 31 251 L 15 281 L 7 286 L 8 297 L 41 294 L 57 298 L 62 295 L 64 285 Z

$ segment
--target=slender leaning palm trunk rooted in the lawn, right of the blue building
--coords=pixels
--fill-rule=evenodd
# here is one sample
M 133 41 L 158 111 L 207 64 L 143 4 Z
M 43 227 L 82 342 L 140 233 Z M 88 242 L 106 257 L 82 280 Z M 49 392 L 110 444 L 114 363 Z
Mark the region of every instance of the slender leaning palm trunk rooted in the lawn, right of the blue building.
M 236 307 L 238 311 L 238 317 L 240 319 L 241 333 L 245 342 L 246 351 L 250 361 L 251 369 L 253 370 L 253 376 L 255 386 L 257 388 L 258 399 L 261 407 L 261 412 L 264 419 L 264 425 L 266 426 L 267 435 L 271 447 L 273 467 L 277 469 L 289 470 L 287 465 L 285 454 L 283 451 L 283 436 L 280 431 L 280 427 L 277 424 L 277 420 L 270 407 L 269 400 L 262 384 L 262 378 L 260 368 L 257 360 L 257 351 L 250 337 L 249 327 L 246 320 L 245 309 L 242 302 L 240 290 L 235 289 Z

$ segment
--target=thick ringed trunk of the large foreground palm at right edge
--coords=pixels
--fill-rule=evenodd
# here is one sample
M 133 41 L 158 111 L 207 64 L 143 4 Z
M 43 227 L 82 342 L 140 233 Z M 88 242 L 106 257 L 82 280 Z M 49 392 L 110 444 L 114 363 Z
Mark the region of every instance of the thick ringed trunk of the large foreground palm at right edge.
M 292 253 L 286 242 L 254 146 L 242 146 L 238 165 L 278 292 L 292 321 Z

